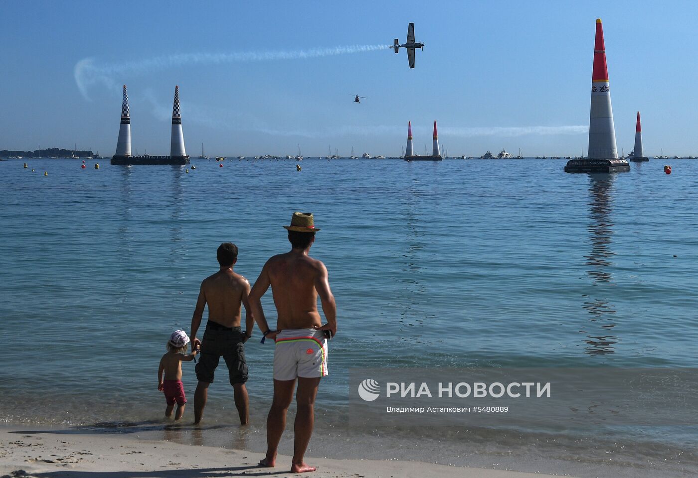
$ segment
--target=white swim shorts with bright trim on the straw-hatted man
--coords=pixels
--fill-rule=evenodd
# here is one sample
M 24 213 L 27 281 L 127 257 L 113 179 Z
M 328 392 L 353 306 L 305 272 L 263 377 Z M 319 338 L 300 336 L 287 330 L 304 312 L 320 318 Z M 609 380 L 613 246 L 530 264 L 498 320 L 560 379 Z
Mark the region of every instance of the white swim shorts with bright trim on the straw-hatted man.
M 327 375 L 327 339 L 322 330 L 282 330 L 276 336 L 274 380 Z

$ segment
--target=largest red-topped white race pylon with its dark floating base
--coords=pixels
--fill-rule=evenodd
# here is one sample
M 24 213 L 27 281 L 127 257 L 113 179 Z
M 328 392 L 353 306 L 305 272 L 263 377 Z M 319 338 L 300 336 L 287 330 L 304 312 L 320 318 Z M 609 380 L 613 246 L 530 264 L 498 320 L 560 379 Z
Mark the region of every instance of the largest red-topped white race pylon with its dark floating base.
M 611 109 L 611 90 L 606 66 L 606 47 L 601 19 L 596 19 L 594 68 L 591 77 L 591 114 L 589 118 L 589 147 L 586 160 L 570 160 L 568 172 L 612 173 L 630 171 L 625 160 L 618 159 L 616 129 Z

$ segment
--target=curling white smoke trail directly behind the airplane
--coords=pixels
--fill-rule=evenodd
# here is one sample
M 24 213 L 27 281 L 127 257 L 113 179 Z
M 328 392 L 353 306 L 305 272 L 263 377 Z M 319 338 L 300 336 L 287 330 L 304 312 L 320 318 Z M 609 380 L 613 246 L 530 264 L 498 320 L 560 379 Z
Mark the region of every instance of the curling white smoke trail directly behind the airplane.
M 331 48 L 312 48 L 299 50 L 273 50 L 268 52 L 233 52 L 233 53 L 185 53 L 168 56 L 156 56 L 139 61 L 123 63 L 98 63 L 95 59 L 84 58 L 75 63 L 73 74 L 75 83 L 82 96 L 89 100 L 87 90 L 90 86 L 101 83 L 107 88 L 117 88 L 119 82 L 114 77 L 124 75 L 143 75 L 154 70 L 163 70 L 183 65 L 215 65 L 218 63 L 235 63 L 240 61 L 274 61 L 318 58 L 352 53 L 375 52 L 392 45 L 349 45 Z

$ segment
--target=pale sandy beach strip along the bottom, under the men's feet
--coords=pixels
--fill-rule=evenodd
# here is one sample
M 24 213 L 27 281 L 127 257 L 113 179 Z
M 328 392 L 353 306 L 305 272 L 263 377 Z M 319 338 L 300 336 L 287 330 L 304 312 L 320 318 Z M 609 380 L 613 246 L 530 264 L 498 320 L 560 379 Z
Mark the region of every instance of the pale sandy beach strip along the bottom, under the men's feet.
M 173 442 L 142 440 L 133 435 L 75 434 L 69 431 L 0 429 L 0 475 L 5 477 L 285 477 L 289 456 L 274 469 L 258 468 L 259 453 Z M 461 468 L 419 461 L 371 461 L 308 458 L 318 478 L 547 477 L 483 468 Z

